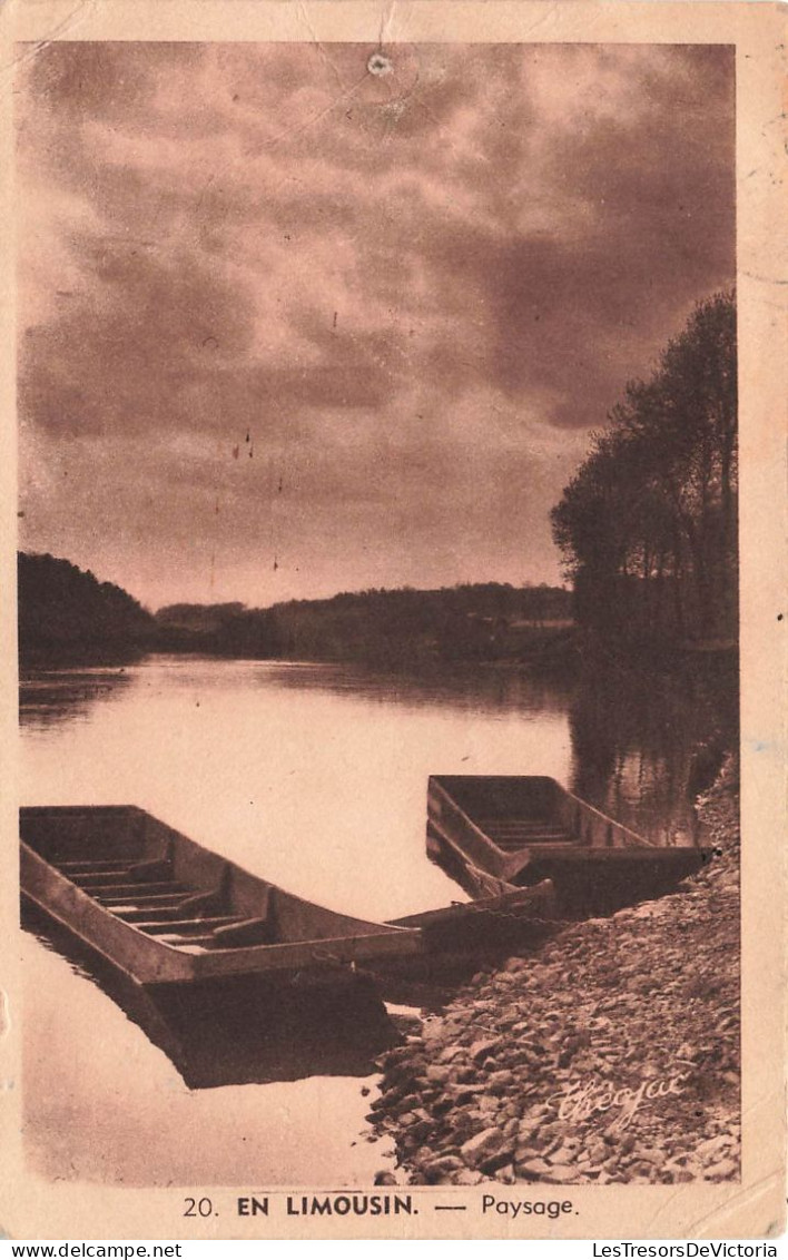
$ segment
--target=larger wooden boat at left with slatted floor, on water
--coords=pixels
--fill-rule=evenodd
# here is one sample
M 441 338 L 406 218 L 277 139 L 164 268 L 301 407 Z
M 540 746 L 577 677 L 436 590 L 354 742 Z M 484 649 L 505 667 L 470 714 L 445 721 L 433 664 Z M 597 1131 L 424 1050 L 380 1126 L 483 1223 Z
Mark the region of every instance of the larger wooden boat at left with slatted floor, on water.
M 20 810 L 23 898 L 142 985 L 348 970 L 417 927 L 303 901 L 132 805 Z

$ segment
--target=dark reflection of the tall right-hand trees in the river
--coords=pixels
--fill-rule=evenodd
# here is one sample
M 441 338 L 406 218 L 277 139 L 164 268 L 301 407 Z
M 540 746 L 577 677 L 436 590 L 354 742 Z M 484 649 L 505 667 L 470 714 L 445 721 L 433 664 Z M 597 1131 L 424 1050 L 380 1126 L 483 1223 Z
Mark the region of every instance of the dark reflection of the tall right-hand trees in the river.
M 738 675 L 720 662 L 681 673 L 595 665 L 570 708 L 572 790 L 662 843 L 691 832 L 692 799 L 738 742 Z

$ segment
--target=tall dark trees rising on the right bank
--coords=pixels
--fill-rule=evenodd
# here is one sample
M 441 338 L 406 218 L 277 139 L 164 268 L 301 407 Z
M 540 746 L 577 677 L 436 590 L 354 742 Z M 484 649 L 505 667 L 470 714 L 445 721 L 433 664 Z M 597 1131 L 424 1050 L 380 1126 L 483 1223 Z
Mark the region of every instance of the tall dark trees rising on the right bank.
M 696 307 L 627 386 L 552 512 L 580 625 L 666 646 L 738 635 L 736 309 Z

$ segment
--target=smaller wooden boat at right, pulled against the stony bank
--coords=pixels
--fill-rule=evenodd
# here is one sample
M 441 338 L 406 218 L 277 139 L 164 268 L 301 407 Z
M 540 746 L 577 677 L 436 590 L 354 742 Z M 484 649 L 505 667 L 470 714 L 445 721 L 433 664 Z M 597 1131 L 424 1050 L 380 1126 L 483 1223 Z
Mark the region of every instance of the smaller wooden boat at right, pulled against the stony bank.
M 432 775 L 427 853 L 475 895 L 551 879 L 564 910 L 657 895 L 710 856 L 652 844 L 555 779 L 516 775 Z

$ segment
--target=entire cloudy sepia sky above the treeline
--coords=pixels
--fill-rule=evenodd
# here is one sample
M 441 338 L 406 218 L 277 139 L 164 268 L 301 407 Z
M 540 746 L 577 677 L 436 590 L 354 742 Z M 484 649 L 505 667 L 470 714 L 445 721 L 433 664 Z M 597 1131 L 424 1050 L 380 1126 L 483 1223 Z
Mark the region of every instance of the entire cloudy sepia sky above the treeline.
M 557 580 L 589 432 L 734 277 L 733 50 L 374 53 L 23 57 L 28 549 L 151 607 Z

